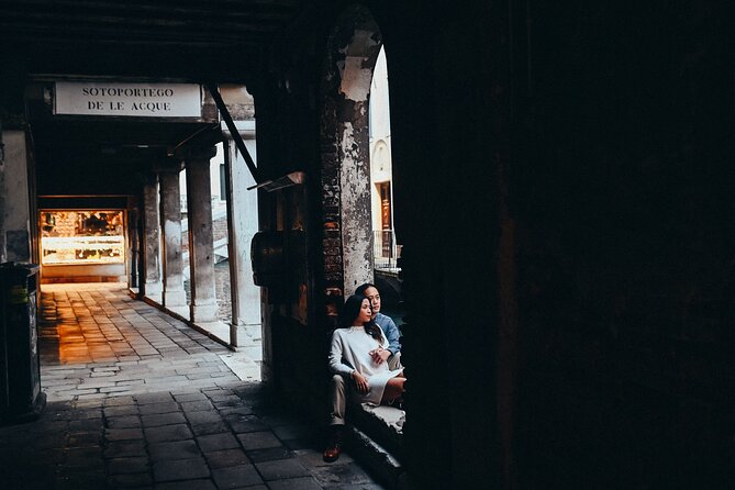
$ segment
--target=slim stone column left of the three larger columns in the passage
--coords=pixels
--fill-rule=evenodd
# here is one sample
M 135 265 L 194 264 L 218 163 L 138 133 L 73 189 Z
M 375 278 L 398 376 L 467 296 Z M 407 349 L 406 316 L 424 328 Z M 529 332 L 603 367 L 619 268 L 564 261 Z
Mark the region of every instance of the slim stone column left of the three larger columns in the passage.
M 158 176 L 153 174 L 143 186 L 143 263 L 145 276 L 142 292 L 154 301 L 162 301 L 164 285 L 160 280 L 160 214 L 158 207 Z

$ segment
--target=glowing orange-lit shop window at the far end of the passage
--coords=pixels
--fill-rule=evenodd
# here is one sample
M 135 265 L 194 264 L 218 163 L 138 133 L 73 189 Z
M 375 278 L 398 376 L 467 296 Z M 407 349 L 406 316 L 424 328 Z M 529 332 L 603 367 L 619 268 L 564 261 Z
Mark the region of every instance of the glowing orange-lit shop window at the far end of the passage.
M 40 213 L 43 265 L 125 261 L 123 211 L 48 211 Z

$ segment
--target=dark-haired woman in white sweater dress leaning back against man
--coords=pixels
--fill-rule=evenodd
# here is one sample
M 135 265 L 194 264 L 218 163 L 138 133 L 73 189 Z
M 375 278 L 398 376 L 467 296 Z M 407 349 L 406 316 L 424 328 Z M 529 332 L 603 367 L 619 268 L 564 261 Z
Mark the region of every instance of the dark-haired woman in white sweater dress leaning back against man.
M 350 396 L 360 403 L 392 404 L 403 393 L 405 377 L 403 369 L 390 370 L 388 363 L 379 363 L 374 356 L 378 348 L 387 348 L 388 341 L 378 324 L 372 321 L 372 307 L 364 296 L 350 296 L 337 318 L 337 328 L 332 334 L 330 370 L 352 381 Z M 379 358 L 378 358 L 379 359 Z M 345 393 L 335 393 L 335 398 Z M 343 400 L 332 400 L 331 437 L 324 450 L 325 461 L 335 461 L 342 450 L 345 424 Z

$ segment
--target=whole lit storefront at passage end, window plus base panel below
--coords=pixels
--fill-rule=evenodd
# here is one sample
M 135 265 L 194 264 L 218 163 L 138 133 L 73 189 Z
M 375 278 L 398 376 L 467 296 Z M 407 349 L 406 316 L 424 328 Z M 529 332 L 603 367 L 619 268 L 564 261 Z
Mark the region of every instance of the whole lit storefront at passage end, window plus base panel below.
M 124 210 L 41 210 L 44 282 L 125 280 Z

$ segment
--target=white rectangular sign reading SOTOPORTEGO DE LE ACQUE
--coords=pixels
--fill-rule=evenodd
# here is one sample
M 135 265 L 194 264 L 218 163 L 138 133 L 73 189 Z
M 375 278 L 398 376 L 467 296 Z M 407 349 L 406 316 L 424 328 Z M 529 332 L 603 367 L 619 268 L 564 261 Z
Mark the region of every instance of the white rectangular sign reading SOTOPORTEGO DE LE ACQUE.
M 55 114 L 201 118 L 196 83 L 57 81 Z

